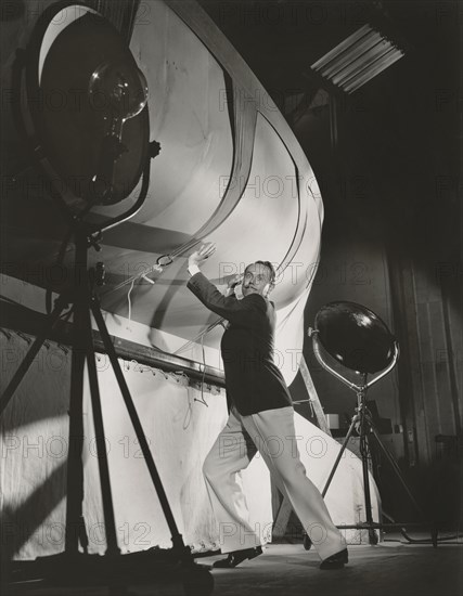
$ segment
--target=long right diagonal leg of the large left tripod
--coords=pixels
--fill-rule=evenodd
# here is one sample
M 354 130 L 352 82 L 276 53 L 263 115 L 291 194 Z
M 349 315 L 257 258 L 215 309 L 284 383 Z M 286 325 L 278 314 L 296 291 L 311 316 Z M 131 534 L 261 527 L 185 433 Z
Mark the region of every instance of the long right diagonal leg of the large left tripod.
M 116 375 L 117 383 L 120 388 L 120 392 L 123 393 L 124 401 L 126 403 L 127 411 L 130 416 L 130 420 L 133 425 L 133 429 L 137 435 L 137 439 L 139 441 L 141 451 L 143 453 L 144 461 L 146 462 L 147 469 L 150 471 L 151 479 L 153 481 L 153 484 L 156 489 L 157 496 L 159 498 L 160 506 L 163 508 L 163 513 L 166 517 L 167 524 L 169 527 L 172 544 L 176 549 L 182 555 L 188 556 L 190 559 L 191 553 L 190 549 L 187 548 L 183 544 L 183 539 L 181 534 L 179 533 L 177 529 L 177 523 L 173 518 L 172 511 L 170 509 L 169 502 L 167 500 L 166 492 L 163 487 L 163 482 L 160 480 L 159 474 L 157 471 L 156 465 L 153 459 L 153 455 L 150 451 L 150 445 L 147 444 L 146 437 L 143 431 L 143 427 L 141 425 L 139 415 L 137 413 L 137 409 L 133 404 L 132 397 L 130 396 L 129 388 L 127 386 L 126 379 L 124 377 L 123 371 L 120 370 L 119 361 L 117 360 L 117 354 L 114 349 L 113 342 L 111 341 L 111 337 L 106 327 L 106 324 L 103 320 L 103 315 L 101 314 L 100 310 L 100 302 L 98 300 L 98 297 L 95 295 L 92 296 L 91 300 L 91 309 L 93 312 L 93 316 L 97 321 L 98 328 L 100 329 L 101 337 L 103 339 L 104 347 L 107 351 L 107 354 L 111 360 L 111 364 L 114 370 L 114 374 Z

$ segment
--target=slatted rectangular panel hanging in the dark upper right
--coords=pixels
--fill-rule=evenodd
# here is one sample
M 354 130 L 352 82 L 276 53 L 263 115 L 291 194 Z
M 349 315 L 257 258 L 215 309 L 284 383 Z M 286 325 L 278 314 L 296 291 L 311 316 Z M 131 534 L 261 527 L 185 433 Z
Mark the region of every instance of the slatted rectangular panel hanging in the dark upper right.
M 346 93 L 353 93 L 403 55 L 402 49 L 366 24 L 310 68 Z

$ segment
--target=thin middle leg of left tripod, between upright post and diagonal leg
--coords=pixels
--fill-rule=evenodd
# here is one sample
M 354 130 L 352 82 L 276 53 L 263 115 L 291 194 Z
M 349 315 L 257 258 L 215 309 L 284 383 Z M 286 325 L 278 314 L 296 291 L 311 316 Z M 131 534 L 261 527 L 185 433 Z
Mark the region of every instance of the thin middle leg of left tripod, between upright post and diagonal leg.
M 114 517 L 113 495 L 111 491 L 110 466 L 107 463 L 106 441 L 104 436 L 103 412 L 101 409 L 100 388 L 95 357 L 93 350 L 90 313 L 87 311 L 87 366 L 89 373 L 90 396 L 92 402 L 93 424 L 97 439 L 98 465 L 100 470 L 101 492 L 103 500 L 104 527 L 108 555 L 119 555 L 117 545 L 116 521 Z

